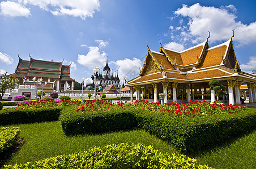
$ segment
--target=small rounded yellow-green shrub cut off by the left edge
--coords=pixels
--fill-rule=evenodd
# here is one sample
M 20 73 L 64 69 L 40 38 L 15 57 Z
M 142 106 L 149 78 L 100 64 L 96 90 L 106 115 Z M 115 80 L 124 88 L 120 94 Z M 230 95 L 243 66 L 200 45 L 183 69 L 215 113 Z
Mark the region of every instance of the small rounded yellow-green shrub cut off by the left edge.
M 16 143 L 19 135 L 19 127 L 1 127 L 0 128 L 0 153 L 7 150 Z

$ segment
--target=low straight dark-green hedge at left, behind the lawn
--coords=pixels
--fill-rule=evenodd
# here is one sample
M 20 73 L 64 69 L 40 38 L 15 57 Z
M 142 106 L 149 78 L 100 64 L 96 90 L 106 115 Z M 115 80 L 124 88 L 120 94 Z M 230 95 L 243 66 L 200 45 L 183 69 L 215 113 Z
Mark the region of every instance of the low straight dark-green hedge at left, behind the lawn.
M 62 108 L 3 109 L 0 111 L 0 125 L 57 121 Z

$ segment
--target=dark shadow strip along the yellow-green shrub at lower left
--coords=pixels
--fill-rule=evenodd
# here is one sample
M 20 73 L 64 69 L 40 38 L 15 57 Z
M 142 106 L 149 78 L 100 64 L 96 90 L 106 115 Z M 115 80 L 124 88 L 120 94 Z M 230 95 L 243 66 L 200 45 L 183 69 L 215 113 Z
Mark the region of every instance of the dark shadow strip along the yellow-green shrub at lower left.
M 3 167 L 4 164 L 12 157 L 12 155 L 22 147 L 24 143 L 23 138 L 18 137 L 16 143 L 10 146 L 7 150 L 4 150 L 0 153 L 0 168 Z

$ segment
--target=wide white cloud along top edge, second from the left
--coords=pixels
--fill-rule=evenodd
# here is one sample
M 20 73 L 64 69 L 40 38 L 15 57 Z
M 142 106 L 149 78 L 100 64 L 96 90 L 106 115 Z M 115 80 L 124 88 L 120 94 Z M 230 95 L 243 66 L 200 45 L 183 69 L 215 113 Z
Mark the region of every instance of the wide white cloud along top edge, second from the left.
M 39 6 L 53 15 L 70 15 L 86 19 L 100 10 L 99 0 L 23 0 L 23 3 Z

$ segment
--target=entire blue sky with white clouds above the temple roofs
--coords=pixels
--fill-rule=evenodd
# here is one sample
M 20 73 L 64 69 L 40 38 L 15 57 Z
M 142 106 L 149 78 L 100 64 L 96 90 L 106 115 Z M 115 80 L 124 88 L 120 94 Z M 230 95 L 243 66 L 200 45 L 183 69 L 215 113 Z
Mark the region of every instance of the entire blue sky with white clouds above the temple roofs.
M 256 2 L 148 0 L 0 1 L 0 72 L 14 73 L 22 59 L 71 64 L 71 78 L 89 78 L 106 57 L 113 74 L 138 75 L 161 43 L 182 51 L 206 40 L 231 38 L 242 71 L 256 69 Z

